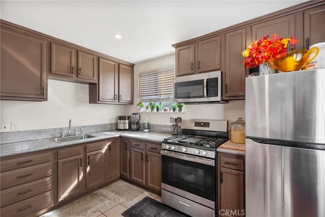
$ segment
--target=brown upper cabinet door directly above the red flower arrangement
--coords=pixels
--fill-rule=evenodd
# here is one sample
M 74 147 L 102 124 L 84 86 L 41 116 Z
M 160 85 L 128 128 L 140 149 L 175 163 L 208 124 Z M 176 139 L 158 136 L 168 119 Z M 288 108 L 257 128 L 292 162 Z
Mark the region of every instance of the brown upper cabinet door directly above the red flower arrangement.
M 280 38 L 295 37 L 295 15 L 290 14 L 277 19 L 252 25 L 253 41 L 277 33 Z

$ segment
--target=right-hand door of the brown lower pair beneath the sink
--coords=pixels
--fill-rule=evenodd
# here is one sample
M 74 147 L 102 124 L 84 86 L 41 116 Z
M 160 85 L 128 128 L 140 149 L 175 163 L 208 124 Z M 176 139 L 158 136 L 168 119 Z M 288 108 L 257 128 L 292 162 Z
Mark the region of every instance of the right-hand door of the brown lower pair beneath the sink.
M 103 150 L 87 153 L 86 189 L 96 187 L 105 181 L 105 158 Z

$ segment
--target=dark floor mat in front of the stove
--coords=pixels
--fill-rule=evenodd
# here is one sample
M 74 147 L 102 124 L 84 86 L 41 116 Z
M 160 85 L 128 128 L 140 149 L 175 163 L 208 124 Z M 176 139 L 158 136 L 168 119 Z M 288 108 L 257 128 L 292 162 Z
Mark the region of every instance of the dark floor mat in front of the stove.
M 187 217 L 188 215 L 177 211 L 150 197 L 145 197 L 122 213 L 125 217 L 132 216 L 161 216 L 161 217 Z

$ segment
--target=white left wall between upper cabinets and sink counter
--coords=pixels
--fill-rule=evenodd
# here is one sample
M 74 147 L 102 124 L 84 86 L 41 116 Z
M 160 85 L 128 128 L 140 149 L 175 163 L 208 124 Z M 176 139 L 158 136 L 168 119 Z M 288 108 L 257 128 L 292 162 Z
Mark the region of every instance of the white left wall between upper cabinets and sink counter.
M 48 101 L 2 100 L 1 123 L 20 122 L 20 130 L 112 123 L 124 105 L 89 104 L 88 85 L 48 80 Z

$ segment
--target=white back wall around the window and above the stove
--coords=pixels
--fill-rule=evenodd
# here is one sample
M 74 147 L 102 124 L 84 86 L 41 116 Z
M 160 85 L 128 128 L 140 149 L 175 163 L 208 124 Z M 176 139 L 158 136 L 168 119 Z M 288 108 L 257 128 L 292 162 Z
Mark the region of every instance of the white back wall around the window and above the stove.
M 152 69 L 163 68 L 175 65 L 175 54 L 163 56 L 157 59 L 148 60 L 135 66 L 134 72 L 134 105 L 126 106 L 126 113 L 137 112 L 138 99 L 138 73 Z M 182 117 L 183 119 L 216 119 L 237 120 L 238 117 L 245 119 L 245 100 L 229 101 L 228 104 L 200 104 L 184 105 L 183 113 L 173 112 L 141 112 L 141 120 L 145 117 L 148 121 L 157 125 L 170 125 L 170 117 Z

